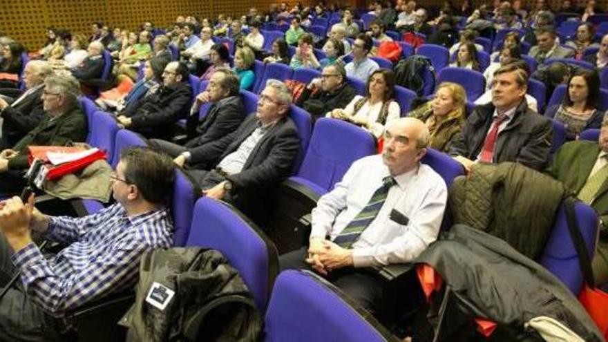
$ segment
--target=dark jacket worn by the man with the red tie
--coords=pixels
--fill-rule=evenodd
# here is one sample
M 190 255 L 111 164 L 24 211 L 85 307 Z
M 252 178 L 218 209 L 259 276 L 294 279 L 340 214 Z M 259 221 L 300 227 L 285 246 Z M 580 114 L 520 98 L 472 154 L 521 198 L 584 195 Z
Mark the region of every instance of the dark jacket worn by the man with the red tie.
M 493 122 L 494 110 L 492 103 L 476 106 L 473 109 L 462 132 L 455 137 L 450 147 L 451 155 L 477 159 Z M 524 100 L 517 106 L 513 120 L 498 135 L 493 162 L 519 162 L 531 169 L 542 170 L 549 160 L 551 142 L 553 142 L 551 121 L 531 111 Z

